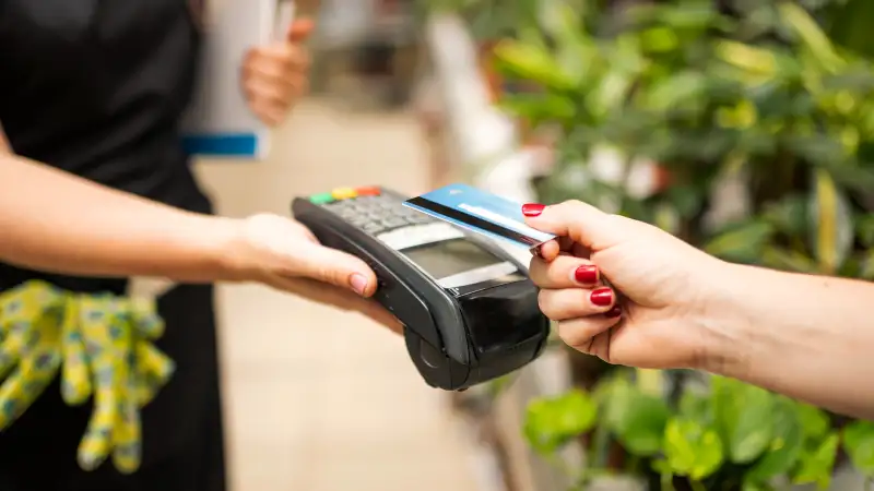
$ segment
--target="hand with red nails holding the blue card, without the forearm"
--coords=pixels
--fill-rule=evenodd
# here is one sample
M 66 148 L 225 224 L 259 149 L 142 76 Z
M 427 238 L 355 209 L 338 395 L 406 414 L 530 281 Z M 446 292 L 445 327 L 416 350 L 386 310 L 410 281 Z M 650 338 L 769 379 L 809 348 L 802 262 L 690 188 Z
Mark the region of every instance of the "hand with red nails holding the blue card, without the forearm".
M 731 271 L 727 263 L 580 202 L 528 204 L 522 212 L 528 225 L 559 237 L 541 246 L 531 277 L 542 288 L 541 309 L 558 321 L 568 345 L 616 364 L 708 362 L 719 335 L 707 315 Z

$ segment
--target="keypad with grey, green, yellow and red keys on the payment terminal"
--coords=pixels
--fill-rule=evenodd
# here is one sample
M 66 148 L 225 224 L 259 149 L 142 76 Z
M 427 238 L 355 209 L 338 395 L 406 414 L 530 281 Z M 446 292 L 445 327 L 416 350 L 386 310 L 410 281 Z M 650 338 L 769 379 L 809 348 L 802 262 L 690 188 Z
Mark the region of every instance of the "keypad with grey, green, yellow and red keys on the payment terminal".
M 309 201 L 371 236 L 401 227 L 436 221 L 427 215 L 403 206 L 403 202 L 379 188 L 340 188 L 316 194 Z

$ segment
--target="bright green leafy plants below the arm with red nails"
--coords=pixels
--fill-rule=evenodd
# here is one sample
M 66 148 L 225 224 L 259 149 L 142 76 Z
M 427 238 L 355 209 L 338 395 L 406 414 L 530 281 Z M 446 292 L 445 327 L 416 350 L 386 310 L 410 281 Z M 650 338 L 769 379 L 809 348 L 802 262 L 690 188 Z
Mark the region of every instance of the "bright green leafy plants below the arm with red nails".
M 640 383 L 614 376 L 593 394 L 575 390 L 532 402 L 524 435 L 539 453 L 555 455 L 599 428 L 665 480 L 710 482 L 730 468 L 747 490 L 771 489 L 780 480 L 827 488 L 841 439 L 825 412 L 734 380 L 710 382 L 709 392 L 687 392 L 670 407 Z M 874 477 L 874 423 L 847 427 L 843 447 L 857 468 Z

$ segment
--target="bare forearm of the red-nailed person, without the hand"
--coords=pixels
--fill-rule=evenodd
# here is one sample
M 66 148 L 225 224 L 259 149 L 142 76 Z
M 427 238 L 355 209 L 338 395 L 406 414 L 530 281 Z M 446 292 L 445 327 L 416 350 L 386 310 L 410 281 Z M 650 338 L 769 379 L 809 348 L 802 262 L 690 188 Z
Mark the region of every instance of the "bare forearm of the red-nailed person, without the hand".
M 730 266 L 711 306 L 712 369 L 839 412 L 874 418 L 874 285 Z

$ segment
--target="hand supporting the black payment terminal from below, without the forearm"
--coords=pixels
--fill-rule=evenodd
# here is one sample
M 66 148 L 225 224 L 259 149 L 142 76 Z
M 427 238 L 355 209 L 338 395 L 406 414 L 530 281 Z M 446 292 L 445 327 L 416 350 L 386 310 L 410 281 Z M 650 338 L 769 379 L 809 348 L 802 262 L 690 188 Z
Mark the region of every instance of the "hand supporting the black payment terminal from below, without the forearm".
M 364 261 L 321 246 L 305 226 L 279 215 L 255 215 L 234 224 L 236 231 L 224 253 L 232 278 L 358 311 L 401 331 L 393 315 L 368 299 L 377 279 Z

